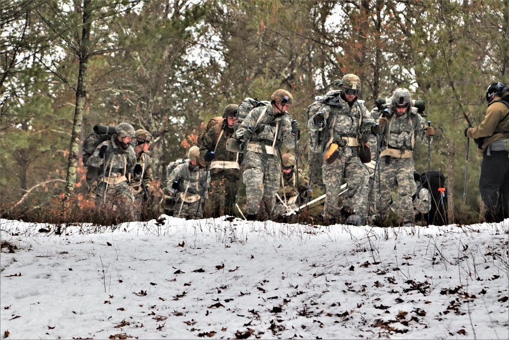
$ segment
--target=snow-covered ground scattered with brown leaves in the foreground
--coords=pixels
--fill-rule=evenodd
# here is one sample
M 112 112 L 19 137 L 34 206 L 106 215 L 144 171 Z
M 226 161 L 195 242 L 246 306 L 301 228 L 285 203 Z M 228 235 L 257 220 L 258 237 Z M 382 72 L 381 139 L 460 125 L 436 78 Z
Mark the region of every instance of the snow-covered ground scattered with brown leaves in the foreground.
M 509 337 L 509 220 L 383 229 L 163 218 L 61 236 L 0 220 L 0 337 Z

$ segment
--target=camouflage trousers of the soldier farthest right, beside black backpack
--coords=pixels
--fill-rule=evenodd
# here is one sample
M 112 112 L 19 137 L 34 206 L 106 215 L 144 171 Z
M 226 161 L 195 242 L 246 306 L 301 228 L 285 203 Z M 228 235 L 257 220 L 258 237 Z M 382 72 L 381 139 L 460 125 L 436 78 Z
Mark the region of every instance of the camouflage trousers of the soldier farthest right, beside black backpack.
M 389 163 L 386 159 L 389 158 Z M 413 177 L 414 162 L 412 158 L 380 158 L 380 193 L 378 192 L 378 178 L 375 180 L 374 203 L 379 222 L 386 223 L 392 201 L 392 191 L 397 187 L 396 201 L 398 202 L 399 223 L 414 223 L 414 206 L 412 195 L 417 189 Z

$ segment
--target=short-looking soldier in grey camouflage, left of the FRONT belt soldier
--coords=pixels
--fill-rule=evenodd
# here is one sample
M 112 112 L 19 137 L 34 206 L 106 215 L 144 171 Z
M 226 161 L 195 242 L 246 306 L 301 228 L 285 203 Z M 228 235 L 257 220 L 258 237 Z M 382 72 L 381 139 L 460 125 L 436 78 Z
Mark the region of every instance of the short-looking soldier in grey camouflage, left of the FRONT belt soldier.
M 191 146 L 187 152 L 187 160 L 167 174 L 168 190 L 177 191 L 173 208 L 173 214 L 176 217 L 185 219 L 203 217 L 201 203 L 205 197 L 201 195 L 205 192 L 203 186 L 207 180 L 207 172 L 200 166 L 199 157 L 200 148 Z

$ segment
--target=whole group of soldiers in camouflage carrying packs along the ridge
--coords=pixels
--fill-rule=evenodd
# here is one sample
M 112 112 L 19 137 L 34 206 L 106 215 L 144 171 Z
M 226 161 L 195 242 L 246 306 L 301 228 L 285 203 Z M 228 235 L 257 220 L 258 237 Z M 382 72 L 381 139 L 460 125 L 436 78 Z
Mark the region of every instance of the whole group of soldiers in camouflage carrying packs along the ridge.
M 395 89 L 370 112 L 358 99 L 357 75 L 347 74 L 335 85 L 339 89 L 317 97 L 306 117 L 313 161 L 309 176 L 316 177 L 314 171 L 321 167 L 326 191 L 323 222 L 383 226 L 392 208 L 399 225 L 413 226 L 415 216 L 429 212 L 431 206 L 427 190 L 416 192 L 420 176 L 413 151 L 419 142 L 429 147 L 434 128 L 419 114 L 408 89 Z M 211 120 L 200 145 L 190 147 L 187 159 L 168 165 L 167 214 L 186 219 L 240 214 L 246 220 L 298 221 L 299 207 L 310 201 L 317 183 L 298 169 L 297 154 L 282 153 L 283 146 L 297 152 L 300 139 L 299 124 L 288 112 L 292 94 L 278 89 L 270 99 L 242 117 L 239 105 L 229 104 L 221 117 Z M 474 135 L 472 131 L 465 135 Z M 129 146 L 131 139 L 134 148 Z M 109 200 L 108 187 L 112 201 L 136 202 L 151 190 L 150 140 L 146 130 L 134 131 L 121 123 L 117 135 L 97 147 L 90 164 L 101 167 L 105 159 L 109 162 L 107 176 L 98 182 L 98 205 Z M 245 215 L 238 204 L 241 181 Z

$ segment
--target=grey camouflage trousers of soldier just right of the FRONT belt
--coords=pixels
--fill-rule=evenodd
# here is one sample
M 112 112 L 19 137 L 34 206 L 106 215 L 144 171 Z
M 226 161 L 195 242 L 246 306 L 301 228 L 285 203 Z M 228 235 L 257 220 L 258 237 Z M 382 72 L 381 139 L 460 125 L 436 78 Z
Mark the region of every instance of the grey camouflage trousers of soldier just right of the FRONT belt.
M 246 151 L 242 179 L 246 186 L 246 213 L 271 218 L 281 180 L 278 156 Z

